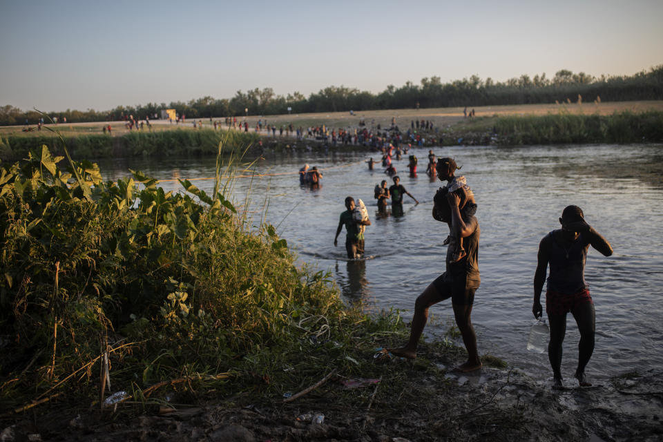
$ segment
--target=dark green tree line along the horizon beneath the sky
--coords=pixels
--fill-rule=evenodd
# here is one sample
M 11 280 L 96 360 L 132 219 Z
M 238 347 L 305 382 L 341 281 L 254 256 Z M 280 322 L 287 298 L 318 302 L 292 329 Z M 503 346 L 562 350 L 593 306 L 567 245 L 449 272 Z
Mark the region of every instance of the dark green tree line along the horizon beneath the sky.
M 48 112 L 60 122 L 102 122 L 124 119 L 133 115 L 144 119 L 160 117 L 162 109 L 175 109 L 187 118 L 209 118 L 242 115 L 278 115 L 311 112 L 372 111 L 398 108 L 438 108 L 455 106 L 497 106 L 503 104 L 548 104 L 553 102 L 631 101 L 663 99 L 663 65 L 643 70 L 631 76 L 573 73 L 562 69 L 553 78 L 546 74 L 521 75 L 506 81 L 485 80 L 477 75 L 443 84 L 440 77 L 426 77 L 420 84 L 407 81 L 400 88 L 387 86 L 381 93 L 371 93 L 345 86 L 329 86 L 305 97 L 299 92 L 276 95 L 272 88 L 238 90 L 230 99 L 210 96 L 189 102 L 148 103 L 137 106 L 117 106 L 111 111 Z M 247 111 L 248 110 L 248 111 Z M 0 107 L 0 125 L 36 124 L 36 111 L 21 111 L 14 106 Z

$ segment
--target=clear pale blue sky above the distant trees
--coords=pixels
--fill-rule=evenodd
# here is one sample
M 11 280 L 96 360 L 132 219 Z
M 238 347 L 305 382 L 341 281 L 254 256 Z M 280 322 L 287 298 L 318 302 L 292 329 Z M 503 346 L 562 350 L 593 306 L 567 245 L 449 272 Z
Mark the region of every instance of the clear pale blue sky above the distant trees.
M 663 64 L 663 1 L 0 0 L 0 106 L 170 103 L 272 88 L 379 93 Z

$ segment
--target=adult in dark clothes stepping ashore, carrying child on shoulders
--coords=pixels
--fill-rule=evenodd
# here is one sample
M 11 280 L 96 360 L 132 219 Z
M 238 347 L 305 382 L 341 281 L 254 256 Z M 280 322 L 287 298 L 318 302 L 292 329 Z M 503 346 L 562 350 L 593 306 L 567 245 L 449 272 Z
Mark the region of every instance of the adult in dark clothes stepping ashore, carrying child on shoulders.
M 477 350 L 477 334 L 472 327 L 472 304 L 474 303 L 474 291 L 479 288 L 481 278 L 479 276 L 479 221 L 474 215 L 463 218 L 459 209 L 462 204 L 461 195 L 456 192 L 440 193 L 445 195 L 436 198 L 433 207 L 433 218 L 449 224 L 449 229 L 454 227 L 460 236 L 465 239 L 466 255 L 457 262 L 452 261 L 453 244 L 447 249 L 446 271 L 438 276 L 426 287 L 414 302 L 414 316 L 412 317 L 412 328 L 410 329 L 410 340 L 404 347 L 389 349 L 392 354 L 403 358 L 416 358 L 416 347 L 419 338 L 428 319 L 428 309 L 437 302 L 451 298 L 454 309 L 456 324 L 463 336 L 465 349 L 468 350 L 468 360 L 457 367 L 460 372 L 472 372 L 481 368 L 481 358 Z M 445 200 L 445 201 L 440 201 Z M 455 239 L 452 237 L 451 241 Z

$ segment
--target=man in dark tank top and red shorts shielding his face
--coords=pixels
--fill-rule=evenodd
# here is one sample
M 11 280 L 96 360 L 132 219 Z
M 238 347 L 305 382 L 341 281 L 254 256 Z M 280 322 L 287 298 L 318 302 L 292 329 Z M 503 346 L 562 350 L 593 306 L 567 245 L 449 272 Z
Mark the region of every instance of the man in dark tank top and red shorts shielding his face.
M 535 318 L 541 317 L 541 291 L 546 281 L 546 269 L 550 265 L 546 314 L 550 321 L 548 359 L 553 367 L 553 388 L 564 387 L 561 378 L 561 343 L 566 334 L 566 314 L 569 311 L 580 332 L 575 378 L 581 387 L 590 387 L 585 367 L 594 352 L 595 314 L 594 303 L 585 282 L 585 260 L 590 245 L 604 256 L 611 256 L 613 248 L 585 222 L 582 209 L 578 206 L 566 206 L 559 222 L 561 229 L 551 231 L 539 243 L 532 313 Z

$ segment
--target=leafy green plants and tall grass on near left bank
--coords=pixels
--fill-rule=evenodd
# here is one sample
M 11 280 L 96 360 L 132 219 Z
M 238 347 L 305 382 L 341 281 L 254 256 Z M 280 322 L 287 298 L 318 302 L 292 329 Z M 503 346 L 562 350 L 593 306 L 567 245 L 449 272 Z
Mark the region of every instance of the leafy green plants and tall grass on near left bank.
M 215 195 L 172 193 L 59 160 L 41 146 L 1 171 L 0 412 L 103 400 L 107 378 L 138 399 L 182 376 L 281 394 L 331 367 L 369 376 L 374 342 L 400 333 L 397 314 L 346 308 L 329 273 L 296 267 L 271 225 L 249 229 L 221 173 Z

